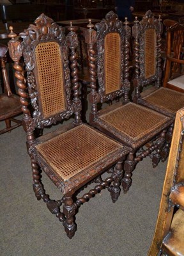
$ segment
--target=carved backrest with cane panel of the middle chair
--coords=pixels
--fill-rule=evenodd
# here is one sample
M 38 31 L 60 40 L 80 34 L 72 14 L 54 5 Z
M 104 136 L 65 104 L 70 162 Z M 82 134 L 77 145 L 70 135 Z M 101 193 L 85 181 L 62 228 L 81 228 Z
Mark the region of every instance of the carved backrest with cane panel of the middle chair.
M 123 23 L 114 12 L 109 12 L 101 22 L 88 25 L 86 42 L 89 49 L 89 68 L 91 72 L 92 102 L 111 101 L 125 93 L 125 102 L 128 102 L 128 47 L 130 27 L 128 22 Z M 96 52 L 94 45 L 96 44 Z M 95 71 L 96 54 L 96 71 Z M 97 72 L 97 74 L 96 74 Z M 98 87 L 96 86 L 96 77 Z M 97 103 L 97 102 L 96 102 Z

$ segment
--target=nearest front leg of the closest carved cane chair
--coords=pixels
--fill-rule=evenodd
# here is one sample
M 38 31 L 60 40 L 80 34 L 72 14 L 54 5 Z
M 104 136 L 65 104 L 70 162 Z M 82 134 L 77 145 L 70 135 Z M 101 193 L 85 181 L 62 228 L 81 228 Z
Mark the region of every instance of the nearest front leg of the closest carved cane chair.
M 63 213 L 66 220 L 63 222 L 66 235 L 71 239 L 76 231 L 76 224 L 74 223 L 73 216 L 75 215 L 75 205 L 73 204 L 72 196 L 65 196 L 63 205 Z

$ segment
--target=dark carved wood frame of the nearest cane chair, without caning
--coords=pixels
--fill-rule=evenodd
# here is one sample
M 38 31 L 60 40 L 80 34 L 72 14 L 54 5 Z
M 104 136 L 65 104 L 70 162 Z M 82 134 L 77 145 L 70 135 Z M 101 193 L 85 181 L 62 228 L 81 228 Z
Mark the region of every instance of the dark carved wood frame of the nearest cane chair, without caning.
M 49 162 L 41 156 L 36 145 L 39 145 L 45 141 L 49 141 L 51 138 L 56 138 L 59 134 L 65 134 L 66 131 L 75 129 L 76 127 L 86 127 L 81 122 L 81 100 L 79 99 L 79 83 L 77 77 L 77 34 L 75 28 L 70 26 L 70 31 L 65 37 L 61 27 L 53 20 L 45 16 L 43 13 L 35 20 L 36 25 L 29 25 L 28 29 L 24 30 L 24 33 L 20 33 L 23 41 L 20 43 L 17 40 L 15 33 L 11 28 L 10 37 L 8 42 L 10 56 L 14 61 L 15 77 L 17 78 L 17 86 L 19 87 L 20 102 L 22 104 L 23 111 L 23 125 L 27 136 L 27 152 L 31 157 L 31 166 L 33 172 L 33 189 L 35 196 L 38 200 L 43 199 L 47 204 L 49 211 L 52 214 L 56 214 L 59 221 L 63 222 L 66 234 L 69 238 L 72 238 L 75 234 L 76 224 L 74 221 L 74 215 L 81 204 L 88 202 L 90 198 L 95 196 L 102 189 L 107 188 L 112 197 L 112 202 L 118 200 L 120 194 L 120 181 L 123 177 L 123 159 L 125 155 L 130 152 L 131 148 L 125 145 L 121 145 L 114 152 L 109 153 L 107 156 L 91 164 L 89 168 L 85 168 L 77 175 L 74 175 L 68 180 L 63 180 L 58 177 L 56 170 L 49 165 Z M 43 118 L 42 106 L 40 105 L 40 96 L 38 90 L 38 80 L 36 79 L 37 71 L 34 60 L 34 49 L 36 45 L 44 42 L 56 42 L 60 45 L 63 56 L 63 68 L 64 68 L 64 86 L 66 96 L 66 109 L 57 113 L 56 115 Z M 68 52 L 70 52 L 70 67 L 68 65 Z M 23 70 L 20 65 L 20 58 L 24 56 L 26 63 L 26 70 Z M 35 69 L 34 69 L 35 68 Z M 71 68 L 71 73 L 70 73 Z M 27 85 L 24 75 L 27 74 Z M 72 75 L 72 81 L 70 84 L 70 74 Z M 70 87 L 72 85 L 72 89 Z M 28 90 L 27 90 L 28 89 Z M 33 112 L 30 111 L 29 105 L 33 107 Z M 72 124 L 62 125 L 60 129 L 54 132 L 49 132 L 43 136 L 36 138 L 35 130 L 43 129 L 52 124 L 56 124 L 59 121 L 63 121 L 70 118 L 74 114 L 74 120 Z M 82 126 L 83 125 L 83 126 Z M 82 128 L 81 128 L 82 129 Z M 95 129 L 92 131 L 96 132 Z M 100 134 L 100 132 L 98 132 Z M 102 133 L 101 133 L 102 134 Z M 107 138 L 107 136 L 105 137 Z M 93 138 L 91 138 L 93 140 Z M 108 138 L 108 140 L 112 140 Z M 76 150 L 76 149 L 75 149 Z M 86 152 L 84 148 L 84 154 L 91 156 L 92 152 Z M 86 156 L 85 155 L 85 156 Z M 41 170 L 40 170 L 41 168 Z M 42 184 L 42 170 L 49 176 L 50 180 L 61 190 L 63 197 L 61 200 L 51 200 L 49 195 L 45 193 L 45 189 Z M 101 174 L 107 171 L 110 173 L 110 177 L 103 180 Z M 90 189 L 88 193 L 85 193 L 79 198 L 75 196 L 82 187 L 87 186 L 90 182 L 95 182 L 97 185 L 94 189 Z M 75 194 L 75 196 L 73 196 Z M 73 198 L 72 198 L 73 196 Z M 63 211 L 60 207 L 63 205 Z

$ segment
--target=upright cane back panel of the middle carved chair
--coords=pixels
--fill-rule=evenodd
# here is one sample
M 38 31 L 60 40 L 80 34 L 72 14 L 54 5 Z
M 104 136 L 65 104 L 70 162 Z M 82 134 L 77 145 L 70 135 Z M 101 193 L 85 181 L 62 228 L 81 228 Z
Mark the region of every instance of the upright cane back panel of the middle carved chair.
M 116 92 L 120 86 L 121 41 L 119 33 L 105 36 L 105 94 Z

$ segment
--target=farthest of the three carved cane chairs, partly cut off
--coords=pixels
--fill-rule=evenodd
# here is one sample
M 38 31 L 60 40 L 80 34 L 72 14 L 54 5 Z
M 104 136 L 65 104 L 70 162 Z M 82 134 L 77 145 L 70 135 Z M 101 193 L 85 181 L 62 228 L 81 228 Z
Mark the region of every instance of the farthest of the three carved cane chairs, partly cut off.
M 162 20 L 155 19 L 149 10 L 141 22 L 135 19 L 134 23 L 134 102 L 175 117 L 176 111 L 184 106 L 184 94 L 161 86 Z M 141 88 L 149 85 L 152 86 L 141 93 Z

